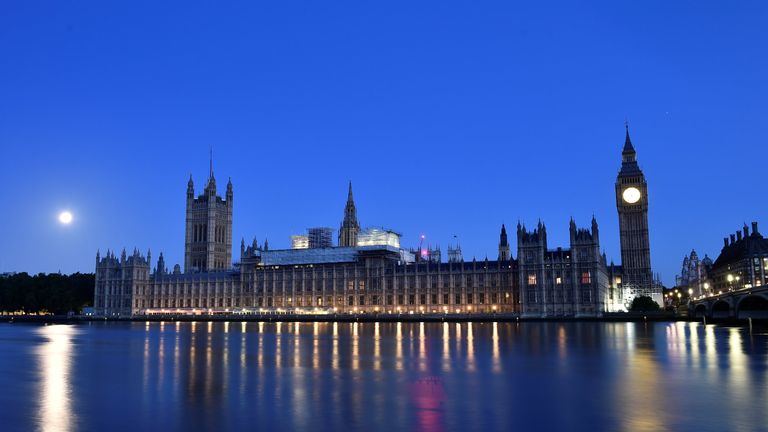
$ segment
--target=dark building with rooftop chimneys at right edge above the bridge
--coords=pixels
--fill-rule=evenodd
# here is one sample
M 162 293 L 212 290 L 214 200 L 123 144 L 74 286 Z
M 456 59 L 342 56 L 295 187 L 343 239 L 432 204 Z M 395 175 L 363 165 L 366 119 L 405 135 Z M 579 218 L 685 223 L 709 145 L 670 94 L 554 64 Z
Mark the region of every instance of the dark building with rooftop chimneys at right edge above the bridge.
M 768 284 L 768 239 L 752 222 L 723 239 L 723 249 L 709 270 L 712 293 L 735 291 Z

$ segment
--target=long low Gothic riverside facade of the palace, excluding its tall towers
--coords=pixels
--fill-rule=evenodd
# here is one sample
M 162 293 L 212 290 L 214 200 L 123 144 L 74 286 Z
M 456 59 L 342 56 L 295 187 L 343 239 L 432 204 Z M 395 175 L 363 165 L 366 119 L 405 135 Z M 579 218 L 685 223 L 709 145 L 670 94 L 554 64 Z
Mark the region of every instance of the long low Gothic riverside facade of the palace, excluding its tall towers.
M 404 263 L 400 251 L 372 246 L 334 248 L 341 255 L 332 257 L 336 262 L 270 264 L 272 254 L 299 252 L 249 247 L 230 271 L 168 273 L 162 263 L 150 272 L 147 259 L 138 253 L 119 261 L 109 255 L 97 264 L 97 313 L 320 308 L 338 313 L 598 316 L 607 310 L 607 276 L 598 244 L 587 237 L 577 239 L 575 248 L 555 251 L 546 250 L 545 243 L 519 240 L 525 244 L 519 261 Z

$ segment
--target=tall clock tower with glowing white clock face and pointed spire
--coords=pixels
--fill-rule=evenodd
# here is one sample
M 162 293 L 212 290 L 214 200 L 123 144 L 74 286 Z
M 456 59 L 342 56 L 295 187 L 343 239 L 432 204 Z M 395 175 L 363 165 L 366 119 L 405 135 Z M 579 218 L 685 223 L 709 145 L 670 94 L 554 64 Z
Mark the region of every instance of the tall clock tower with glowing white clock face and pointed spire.
M 648 241 L 648 185 L 637 165 L 637 154 L 629 139 L 629 127 L 621 152 L 621 170 L 616 177 L 616 209 L 619 212 L 622 285 L 636 295 L 660 294 L 653 289 L 651 249 Z M 659 303 L 661 304 L 661 303 Z

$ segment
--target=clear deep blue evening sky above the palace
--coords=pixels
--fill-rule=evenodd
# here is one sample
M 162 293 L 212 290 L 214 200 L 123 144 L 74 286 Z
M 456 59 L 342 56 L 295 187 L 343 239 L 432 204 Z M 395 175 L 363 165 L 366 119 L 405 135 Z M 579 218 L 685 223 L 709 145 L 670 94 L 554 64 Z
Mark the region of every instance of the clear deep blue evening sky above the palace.
M 181 262 L 209 145 L 236 250 L 337 228 L 352 179 L 361 224 L 406 245 L 494 258 L 502 222 L 541 218 L 567 246 L 594 213 L 618 262 L 625 118 L 667 284 L 768 232 L 768 3 L 590 3 L 6 1 L 0 272 Z

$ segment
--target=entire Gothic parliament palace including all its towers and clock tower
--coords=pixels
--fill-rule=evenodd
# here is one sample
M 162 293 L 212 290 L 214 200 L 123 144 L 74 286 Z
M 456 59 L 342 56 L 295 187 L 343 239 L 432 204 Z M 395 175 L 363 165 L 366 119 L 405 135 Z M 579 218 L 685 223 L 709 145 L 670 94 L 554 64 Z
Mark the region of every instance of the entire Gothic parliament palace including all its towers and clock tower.
M 616 178 L 621 265 L 600 253 L 600 229 L 570 221 L 568 247 L 552 248 L 547 226 L 518 223 L 517 256 L 506 226 L 496 260 L 464 261 L 458 249 L 400 246 L 393 231 L 361 229 L 349 185 L 336 246 L 310 235 L 291 249 L 240 243 L 232 262 L 232 182 L 218 195 L 213 164 L 201 194 L 190 177 L 186 195 L 184 268 L 167 268 L 161 253 L 96 254 L 94 311 L 103 316 L 263 313 L 500 314 L 599 317 L 625 310 L 637 295 L 661 304 L 653 283 L 648 188 L 627 128 Z M 325 230 L 325 231 L 323 231 Z M 328 234 L 330 229 L 320 229 Z M 310 233 L 312 234 L 312 233 Z M 299 237 L 299 236 L 296 236 Z M 325 240 L 323 240 L 325 239 Z

